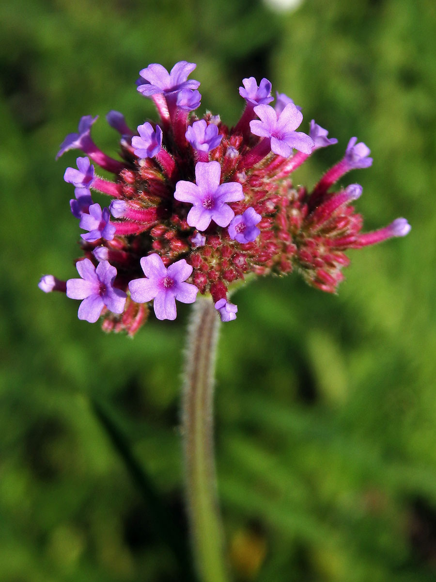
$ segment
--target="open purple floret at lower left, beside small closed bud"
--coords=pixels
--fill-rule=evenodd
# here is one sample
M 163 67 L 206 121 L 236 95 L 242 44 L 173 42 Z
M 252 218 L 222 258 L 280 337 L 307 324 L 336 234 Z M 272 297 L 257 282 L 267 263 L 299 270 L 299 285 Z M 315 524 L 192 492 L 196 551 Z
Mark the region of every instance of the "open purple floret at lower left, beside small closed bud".
M 76 263 L 81 279 L 67 281 L 67 297 L 83 299 L 78 308 L 78 318 L 95 323 L 103 307 L 113 313 L 123 313 L 126 293 L 113 286 L 117 270 L 108 261 L 99 263 L 97 269 L 88 258 Z

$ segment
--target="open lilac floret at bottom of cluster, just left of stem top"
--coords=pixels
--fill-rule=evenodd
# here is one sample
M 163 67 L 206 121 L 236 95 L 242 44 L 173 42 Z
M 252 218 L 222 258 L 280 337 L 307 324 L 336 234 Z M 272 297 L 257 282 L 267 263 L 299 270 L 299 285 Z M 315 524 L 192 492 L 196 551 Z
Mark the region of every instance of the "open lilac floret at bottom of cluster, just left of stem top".
M 176 319 L 176 299 L 182 303 L 194 303 L 198 289 L 184 282 L 192 273 L 191 265 L 184 258 L 166 268 L 162 258 L 153 253 L 141 258 L 141 267 L 146 279 L 130 281 L 130 296 L 136 303 L 154 299 L 158 320 Z

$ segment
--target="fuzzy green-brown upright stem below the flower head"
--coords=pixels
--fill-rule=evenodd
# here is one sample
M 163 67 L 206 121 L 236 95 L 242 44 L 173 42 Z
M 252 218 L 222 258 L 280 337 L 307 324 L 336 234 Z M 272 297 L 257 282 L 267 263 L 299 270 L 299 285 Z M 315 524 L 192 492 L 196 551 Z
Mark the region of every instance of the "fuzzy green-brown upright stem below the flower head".
M 213 457 L 213 388 L 220 320 L 212 300 L 192 310 L 185 353 L 183 435 L 191 540 L 202 582 L 227 582 Z

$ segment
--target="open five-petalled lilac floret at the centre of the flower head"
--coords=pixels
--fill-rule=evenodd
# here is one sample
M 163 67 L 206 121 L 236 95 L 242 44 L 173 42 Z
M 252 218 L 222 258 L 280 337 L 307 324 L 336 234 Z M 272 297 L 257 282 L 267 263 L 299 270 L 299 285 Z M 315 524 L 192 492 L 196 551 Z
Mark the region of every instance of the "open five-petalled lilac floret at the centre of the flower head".
M 185 180 L 177 182 L 174 198 L 193 204 L 188 212 L 188 225 L 197 230 L 206 230 L 213 220 L 218 226 L 228 226 L 235 213 L 226 203 L 244 200 L 244 194 L 241 184 L 237 182 L 220 184 L 220 178 L 219 162 L 197 162 L 196 183 Z

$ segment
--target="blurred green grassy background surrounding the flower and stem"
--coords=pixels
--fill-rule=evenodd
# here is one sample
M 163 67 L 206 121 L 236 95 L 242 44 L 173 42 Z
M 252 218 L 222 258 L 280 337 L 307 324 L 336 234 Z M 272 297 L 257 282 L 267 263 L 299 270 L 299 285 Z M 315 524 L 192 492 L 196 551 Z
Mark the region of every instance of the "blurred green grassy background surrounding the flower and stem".
M 243 77 L 266 76 L 339 144 L 298 173 L 312 185 L 358 136 L 365 229 L 412 232 L 349 253 L 338 296 L 298 275 L 235 296 L 217 363 L 219 494 L 235 580 L 436 579 L 433 0 L 14 0 L 0 8 L 2 385 L 0 580 L 182 580 L 153 507 L 90 398 L 101 402 L 185 537 L 178 404 L 188 306 L 134 340 L 77 320 L 37 288 L 74 277 L 77 221 L 55 162 L 82 115 L 116 155 L 110 109 L 154 118 L 138 71 L 198 63 L 202 107 L 229 125 Z M 165 536 L 164 536 L 165 537 Z

